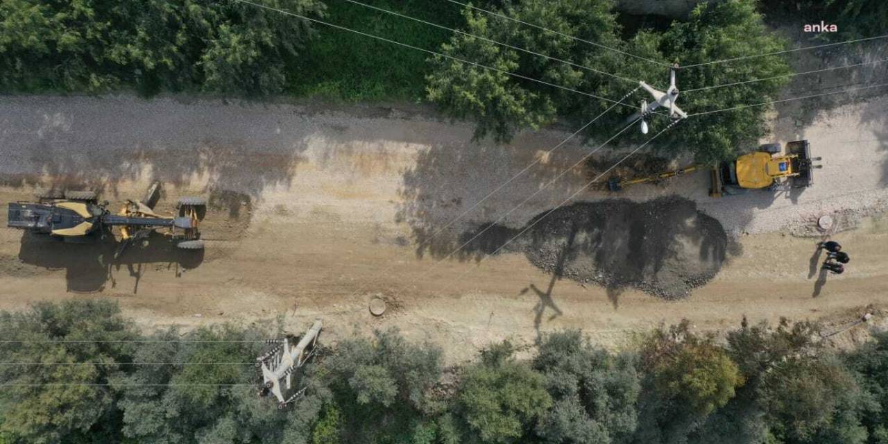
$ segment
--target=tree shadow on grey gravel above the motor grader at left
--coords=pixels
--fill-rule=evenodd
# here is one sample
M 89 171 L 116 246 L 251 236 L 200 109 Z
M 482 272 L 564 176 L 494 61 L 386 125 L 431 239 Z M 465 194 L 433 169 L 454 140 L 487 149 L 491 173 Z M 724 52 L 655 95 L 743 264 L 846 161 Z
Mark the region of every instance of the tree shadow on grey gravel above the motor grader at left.
M 102 103 L 121 106 L 115 99 Z M 265 131 L 267 122 L 253 123 L 246 116 L 233 123 L 210 120 L 190 108 L 165 106 L 134 101 L 126 106 L 128 116 L 121 117 L 96 109 L 83 115 L 77 110 L 59 112 L 52 102 L 23 111 L 11 124 L 17 133 L 34 136 L 17 138 L 20 143 L 5 151 L 16 160 L 16 169 L 25 172 L 4 173 L 0 181 L 8 186 L 91 189 L 115 198 L 121 197 L 119 184 L 127 180 L 160 180 L 182 187 L 198 179 L 204 191 L 234 190 L 253 199 L 267 186 L 291 184 L 305 140 L 294 141 L 280 134 L 280 128 L 278 134 Z M 91 133 L 96 123 L 83 122 L 90 116 L 107 118 L 106 131 Z

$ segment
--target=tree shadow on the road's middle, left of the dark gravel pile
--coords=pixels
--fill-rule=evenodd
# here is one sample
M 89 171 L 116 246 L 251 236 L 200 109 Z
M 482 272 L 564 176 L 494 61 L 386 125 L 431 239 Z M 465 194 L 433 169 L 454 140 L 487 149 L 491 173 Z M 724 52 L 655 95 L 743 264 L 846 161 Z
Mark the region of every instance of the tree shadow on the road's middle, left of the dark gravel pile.
M 524 207 L 532 208 L 533 202 L 515 207 L 537 192 L 539 201 L 557 202 L 583 186 L 583 180 L 570 180 L 582 179 L 582 168 L 554 180 L 582 154 L 565 146 L 546 155 L 543 150 L 549 149 L 540 142 L 517 139 L 505 146 L 465 143 L 437 145 L 420 152 L 416 165 L 403 172 L 395 218 L 410 226 L 416 256 L 447 257 L 467 241 L 467 227 L 489 224 L 503 216 L 521 218 L 527 211 Z M 496 240 L 488 243 L 496 244 Z M 476 244 L 472 250 L 484 249 Z M 469 260 L 472 255 L 459 257 Z

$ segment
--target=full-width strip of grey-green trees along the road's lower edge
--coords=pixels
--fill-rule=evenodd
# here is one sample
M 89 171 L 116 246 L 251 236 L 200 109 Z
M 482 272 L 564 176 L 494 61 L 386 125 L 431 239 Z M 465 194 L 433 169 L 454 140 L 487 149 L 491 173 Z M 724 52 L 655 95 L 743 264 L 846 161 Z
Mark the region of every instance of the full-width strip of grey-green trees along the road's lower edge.
M 22 341 L 0 344 L 4 444 L 888 442 L 888 334 L 837 353 L 808 322 L 726 340 L 682 322 L 620 353 L 567 330 L 528 359 L 505 341 L 449 368 L 388 329 L 323 349 L 285 410 L 257 396 L 257 329 L 146 334 L 113 303 L 68 301 L 0 313 L 0 335 Z

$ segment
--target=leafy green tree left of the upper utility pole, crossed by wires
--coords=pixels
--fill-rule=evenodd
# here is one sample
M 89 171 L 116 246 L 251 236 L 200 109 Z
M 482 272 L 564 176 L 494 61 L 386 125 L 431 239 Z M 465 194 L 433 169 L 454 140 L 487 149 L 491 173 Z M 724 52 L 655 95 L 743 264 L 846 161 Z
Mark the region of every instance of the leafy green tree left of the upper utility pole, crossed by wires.
M 619 27 L 611 8 L 610 0 L 528 0 L 504 2 L 502 12 L 512 19 L 545 23 L 547 28 L 563 35 L 621 45 L 617 37 Z M 508 43 L 551 58 L 574 59 L 577 65 L 597 66 L 602 71 L 616 68 L 614 58 L 608 52 L 590 51 L 585 44 L 573 39 L 528 31 L 515 21 L 492 18 L 468 8 L 464 17 L 466 33 L 488 40 L 457 34 L 448 44 L 441 45 L 441 52 L 499 71 L 435 56 L 431 59 L 434 69 L 427 77 L 428 92 L 429 99 L 438 103 L 446 114 L 458 119 L 474 118 L 478 123 L 476 138 L 490 135 L 496 141 L 506 141 L 516 131 L 537 129 L 553 122 L 560 107 L 572 107 L 580 100 L 568 95 L 572 94 L 570 92 L 507 75 L 503 71 L 567 88 L 609 89 L 601 75 L 586 76 L 581 67 L 568 66 L 491 41 Z

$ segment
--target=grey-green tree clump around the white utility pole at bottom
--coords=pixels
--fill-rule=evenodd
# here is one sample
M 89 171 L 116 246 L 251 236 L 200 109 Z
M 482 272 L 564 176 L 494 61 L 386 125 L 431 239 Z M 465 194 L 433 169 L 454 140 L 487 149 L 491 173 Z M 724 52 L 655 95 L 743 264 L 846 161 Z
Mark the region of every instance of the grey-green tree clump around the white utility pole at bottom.
M 155 333 L 150 344 L 139 347 L 135 361 L 185 364 L 138 366 L 115 381 L 123 392 L 123 434 L 156 444 L 307 444 L 329 392 L 309 364 L 295 375 L 297 386 L 307 390 L 292 411 L 281 412 L 276 400 L 258 397 L 251 362 L 262 352 L 265 337 L 233 325 L 195 329 L 184 336 L 175 329 Z

